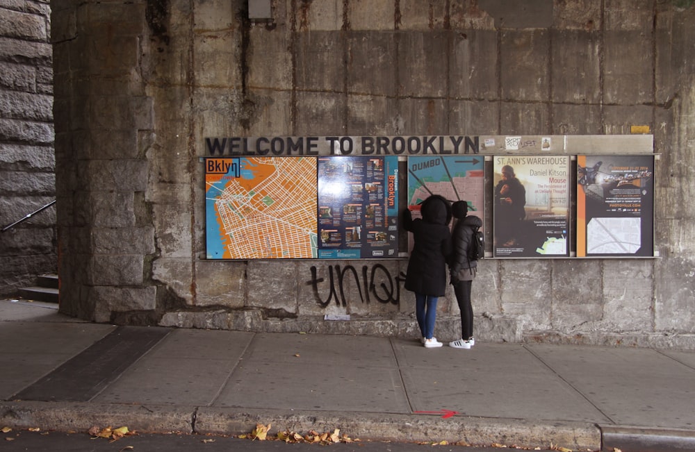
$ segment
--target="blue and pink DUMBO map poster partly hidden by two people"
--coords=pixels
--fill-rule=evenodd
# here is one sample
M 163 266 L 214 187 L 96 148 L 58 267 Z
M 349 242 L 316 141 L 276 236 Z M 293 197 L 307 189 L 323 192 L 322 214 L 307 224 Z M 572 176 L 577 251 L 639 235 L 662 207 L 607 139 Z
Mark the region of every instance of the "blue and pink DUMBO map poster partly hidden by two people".
M 420 218 L 420 204 L 439 194 L 449 201 L 466 201 L 468 215 L 484 220 L 484 158 L 481 156 L 409 156 L 408 208 Z M 480 228 L 484 230 L 484 226 Z M 412 246 L 412 237 L 409 237 Z

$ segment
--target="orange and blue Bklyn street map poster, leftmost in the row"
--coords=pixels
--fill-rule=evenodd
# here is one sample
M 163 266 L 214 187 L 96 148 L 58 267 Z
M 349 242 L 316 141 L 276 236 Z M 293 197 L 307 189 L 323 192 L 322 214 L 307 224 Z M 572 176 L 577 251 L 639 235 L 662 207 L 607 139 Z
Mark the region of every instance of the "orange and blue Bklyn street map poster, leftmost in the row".
M 206 258 L 316 258 L 316 158 L 204 161 Z

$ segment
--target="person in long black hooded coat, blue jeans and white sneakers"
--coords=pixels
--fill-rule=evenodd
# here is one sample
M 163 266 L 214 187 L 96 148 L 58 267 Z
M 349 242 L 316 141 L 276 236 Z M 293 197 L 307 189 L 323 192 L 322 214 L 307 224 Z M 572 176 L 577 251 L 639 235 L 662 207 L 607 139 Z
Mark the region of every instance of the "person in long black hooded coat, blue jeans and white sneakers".
M 427 348 L 441 347 L 434 337 L 436 304 L 446 290 L 446 260 L 451 253 L 451 207 L 443 196 L 433 194 L 420 206 L 422 219 L 413 219 L 404 210 L 402 224 L 413 233 L 414 246 L 410 253 L 405 288 L 415 292 L 416 317 L 423 344 Z

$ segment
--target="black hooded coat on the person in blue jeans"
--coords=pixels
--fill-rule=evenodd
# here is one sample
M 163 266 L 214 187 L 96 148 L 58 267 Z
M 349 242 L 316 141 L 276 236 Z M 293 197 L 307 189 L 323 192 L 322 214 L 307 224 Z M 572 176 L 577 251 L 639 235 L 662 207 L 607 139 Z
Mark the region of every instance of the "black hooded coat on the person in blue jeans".
M 443 196 L 432 195 L 420 206 L 422 219 L 410 210 L 402 213 L 402 224 L 413 233 L 405 288 L 423 295 L 443 296 L 446 290 L 446 260 L 451 253 L 451 207 Z

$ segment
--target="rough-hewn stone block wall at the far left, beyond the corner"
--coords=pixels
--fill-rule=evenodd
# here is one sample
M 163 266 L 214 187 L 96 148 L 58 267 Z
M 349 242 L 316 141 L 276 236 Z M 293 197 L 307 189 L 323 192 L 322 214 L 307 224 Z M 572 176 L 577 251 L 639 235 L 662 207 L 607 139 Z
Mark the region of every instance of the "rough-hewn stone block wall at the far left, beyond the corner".
M 0 226 L 56 192 L 49 1 L 0 1 Z M 56 208 L 0 233 L 0 296 L 56 273 Z

